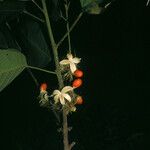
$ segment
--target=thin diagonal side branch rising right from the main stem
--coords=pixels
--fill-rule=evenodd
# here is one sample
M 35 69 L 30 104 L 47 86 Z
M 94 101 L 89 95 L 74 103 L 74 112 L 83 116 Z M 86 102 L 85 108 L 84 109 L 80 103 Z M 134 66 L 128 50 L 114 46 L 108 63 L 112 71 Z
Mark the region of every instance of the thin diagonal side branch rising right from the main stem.
M 80 20 L 80 18 L 82 17 L 83 12 L 81 12 L 77 19 L 74 21 L 74 23 L 72 24 L 72 26 L 70 27 L 69 32 L 71 32 L 73 30 L 73 28 L 75 27 L 75 25 L 78 23 L 78 21 Z M 65 40 L 65 38 L 68 36 L 68 32 L 61 38 L 61 40 L 57 43 L 57 47 L 60 46 L 60 44 Z

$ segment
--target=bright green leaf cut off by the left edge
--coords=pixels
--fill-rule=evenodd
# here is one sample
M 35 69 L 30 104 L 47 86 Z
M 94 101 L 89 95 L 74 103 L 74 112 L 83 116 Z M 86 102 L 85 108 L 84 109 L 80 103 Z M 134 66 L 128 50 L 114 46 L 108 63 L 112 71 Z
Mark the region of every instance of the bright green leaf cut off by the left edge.
M 0 92 L 27 66 L 25 56 L 15 50 L 0 50 Z

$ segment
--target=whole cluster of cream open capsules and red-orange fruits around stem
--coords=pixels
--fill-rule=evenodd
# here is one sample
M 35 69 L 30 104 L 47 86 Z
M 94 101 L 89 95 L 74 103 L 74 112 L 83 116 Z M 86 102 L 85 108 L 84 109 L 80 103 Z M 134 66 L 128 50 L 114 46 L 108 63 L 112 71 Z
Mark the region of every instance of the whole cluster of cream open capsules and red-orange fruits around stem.
M 49 98 L 53 97 L 51 103 L 57 110 L 66 108 L 68 112 L 76 111 L 75 105 L 83 104 L 82 96 L 76 94 L 75 89 L 82 84 L 83 71 L 77 68 L 77 64 L 81 58 L 73 57 L 72 54 L 67 54 L 67 59 L 60 61 L 61 74 L 64 79 L 64 86 L 62 89 L 56 89 L 52 95 L 48 95 L 47 84 L 42 83 L 40 86 L 40 103 L 42 106 L 47 105 Z M 68 85 L 71 84 L 71 85 Z M 50 104 L 50 103 L 49 103 Z

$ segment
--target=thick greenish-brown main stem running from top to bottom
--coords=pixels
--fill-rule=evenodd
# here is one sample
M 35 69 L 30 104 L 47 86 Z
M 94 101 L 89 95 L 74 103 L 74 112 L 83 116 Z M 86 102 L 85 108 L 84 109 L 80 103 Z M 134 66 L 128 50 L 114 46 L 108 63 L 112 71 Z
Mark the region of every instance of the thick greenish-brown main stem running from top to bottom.
M 61 75 L 61 69 L 60 69 L 60 65 L 59 65 L 58 50 L 57 50 L 57 45 L 54 40 L 45 0 L 42 0 L 42 5 L 43 5 L 43 12 L 44 12 L 46 25 L 47 25 L 47 29 L 48 29 L 48 34 L 49 34 L 49 38 L 50 38 L 50 42 L 51 42 L 52 50 L 53 50 L 53 54 L 54 54 L 54 61 L 55 61 L 55 66 L 56 66 L 56 75 L 58 78 L 59 89 L 62 89 L 64 87 L 64 83 L 63 83 L 63 78 Z M 64 143 L 64 150 L 70 150 L 69 141 L 68 141 L 67 112 L 65 109 L 63 109 L 63 143 Z

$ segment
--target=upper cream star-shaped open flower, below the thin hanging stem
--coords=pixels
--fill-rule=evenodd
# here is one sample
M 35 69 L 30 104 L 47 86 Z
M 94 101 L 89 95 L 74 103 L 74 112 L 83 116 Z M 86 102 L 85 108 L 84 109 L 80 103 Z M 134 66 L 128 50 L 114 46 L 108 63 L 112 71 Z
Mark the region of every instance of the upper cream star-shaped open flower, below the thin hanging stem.
M 68 59 L 64 59 L 62 61 L 60 61 L 61 65 L 70 65 L 70 70 L 72 73 L 74 73 L 77 70 L 76 65 L 81 61 L 81 58 L 78 57 L 74 57 L 72 56 L 72 54 L 67 54 L 67 58 Z

